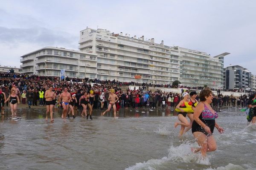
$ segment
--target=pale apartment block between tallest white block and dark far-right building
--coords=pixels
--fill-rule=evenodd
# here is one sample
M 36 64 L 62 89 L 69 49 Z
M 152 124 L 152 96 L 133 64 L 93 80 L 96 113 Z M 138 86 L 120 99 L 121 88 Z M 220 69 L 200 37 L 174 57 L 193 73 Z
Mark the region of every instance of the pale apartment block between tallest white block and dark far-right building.
M 179 48 L 180 82 L 187 86 L 207 85 L 209 88 L 223 88 L 223 53 L 215 57 L 201 51 Z

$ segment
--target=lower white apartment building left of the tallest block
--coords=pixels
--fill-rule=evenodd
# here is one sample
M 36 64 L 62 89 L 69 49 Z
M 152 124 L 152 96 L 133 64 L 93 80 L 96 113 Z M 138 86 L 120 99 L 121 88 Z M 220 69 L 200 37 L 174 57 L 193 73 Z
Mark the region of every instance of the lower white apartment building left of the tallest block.
M 44 47 L 21 56 L 23 74 L 60 76 L 61 69 L 66 77 L 96 77 L 95 54 L 57 47 Z

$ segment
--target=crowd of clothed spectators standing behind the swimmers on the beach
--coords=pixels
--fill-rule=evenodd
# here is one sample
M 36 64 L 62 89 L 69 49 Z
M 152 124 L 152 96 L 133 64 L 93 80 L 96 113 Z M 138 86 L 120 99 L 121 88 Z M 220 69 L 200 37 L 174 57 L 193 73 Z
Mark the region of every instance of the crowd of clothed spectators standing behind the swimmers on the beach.
M 127 87 L 129 85 L 140 86 L 140 88 L 127 88 L 126 90 L 121 89 L 121 87 Z M 50 86 L 53 86 L 57 98 L 64 90 L 64 87 L 67 87 L 71 94 L 76 94 L 77 101 L 79 101 L 79 98 L 84 94 L 84 92 L 93 90 L 93 94 L 95 95 L 93 107 L 96 109 L 107 108 L 107 99 L 111 89 L 114 89 L 116 95 L 119 97 L 118 103 L 121 108 L 137 108 L 142 106 L 150 108 L 166 106 L 175 107 L 180 101 L 180 95 L 177 93 L 166 93 L 159 89 L 156 91 L 148 91 L 148 87 L 177 88 L 177 86 L 173 87 L 170 85 L 153 85 L 151 83 L 119 82 L 115 79 L 107 81 L 85 78 L 84 82 L 82 82 L 82 79 L 69 77 L 66 77 L 65 81 L 59 81 L 58 77 L 10 73 L 0 74 L 0 87 L 2 88 L 2 91 L 6 93 L 6 97 L 9 96 L 10 89 L 15 87 L 17 89 L 16 93 L 23 104 L 30 102 L 30 105 L 45 105 L 44 92 Z M 191 87 L 184 85 L 181 85 L 180 88 L 191 89 Z M 204 87 L 192 88 L 201 90 Z M 243 107 L 247 103 L 247 96 L 244 95 L 236 98 L 234 96 L 222 96 L 222 94 L 219 94 L 218 96 L 215 96 L 212 104 L 214 106 L 230 106 L 230 104 L 234 106 L 236 105 L 236 102 L 237 105 L 241 105 Z

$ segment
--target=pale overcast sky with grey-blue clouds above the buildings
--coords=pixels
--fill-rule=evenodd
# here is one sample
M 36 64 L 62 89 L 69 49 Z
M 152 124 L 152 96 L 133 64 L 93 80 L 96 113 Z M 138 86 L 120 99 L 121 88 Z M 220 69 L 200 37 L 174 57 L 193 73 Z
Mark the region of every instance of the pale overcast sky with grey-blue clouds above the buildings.
M 1 0 L 0 65 L 46 46 L 78 50 L 79 31 L 103 28 L 165 45 L 229 52 L 224 66 L 256 74 L 255 0 Z

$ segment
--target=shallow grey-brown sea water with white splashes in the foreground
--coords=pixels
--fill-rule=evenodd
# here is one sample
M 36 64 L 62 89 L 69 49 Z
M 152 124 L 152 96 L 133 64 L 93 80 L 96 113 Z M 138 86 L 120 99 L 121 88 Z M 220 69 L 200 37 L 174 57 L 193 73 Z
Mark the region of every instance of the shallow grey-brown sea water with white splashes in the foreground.
M 239 108 L 222 109 L 215 129 L 218 148 L 201 159 L 191 131 L 177 137 L 176 114 L 170 109 L 121 109 L 93 120 L 77 116 L 64 121 L 55 111 L 20 109 L 0 117 L 0 169 L 32 170 L 256 170 L 256 125 L 247 125 Z M 79 115 L 79 113 L 76 113 Z

